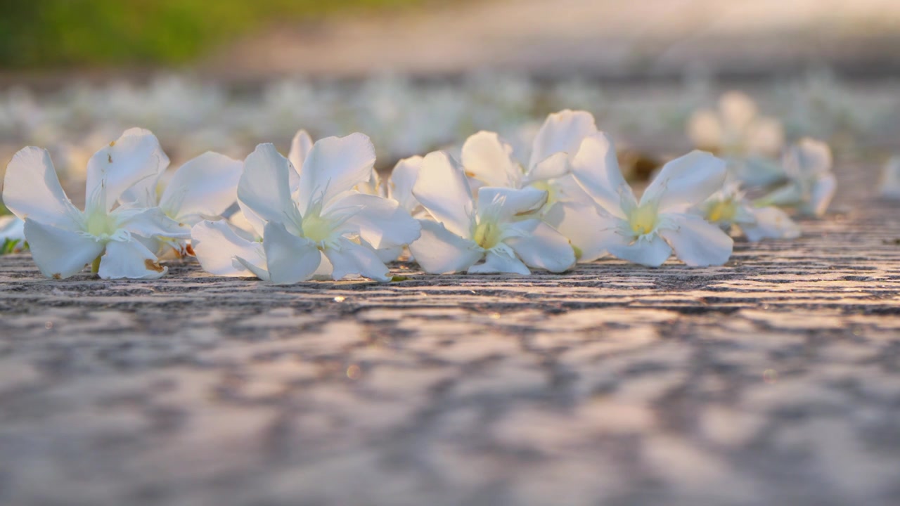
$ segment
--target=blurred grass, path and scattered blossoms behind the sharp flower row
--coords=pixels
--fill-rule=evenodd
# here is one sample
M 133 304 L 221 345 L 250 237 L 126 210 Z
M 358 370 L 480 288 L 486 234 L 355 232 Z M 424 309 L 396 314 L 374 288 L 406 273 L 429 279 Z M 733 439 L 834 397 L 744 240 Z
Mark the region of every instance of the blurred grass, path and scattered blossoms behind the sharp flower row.
M 262 141 L 286 151 L 300 128 L 363 131 L 389 169 L 479 129 L 527 149 L 563 108 L 655 160 L 689 149 L 691 114 L 732 88 L 788 140 L 864 153 L 898 138 L 896 0 L 0 5 L 0 158 L 39 145 L 73 181 L 131 126 L 157 133 L 174 166 Z

